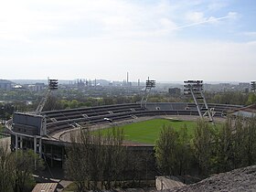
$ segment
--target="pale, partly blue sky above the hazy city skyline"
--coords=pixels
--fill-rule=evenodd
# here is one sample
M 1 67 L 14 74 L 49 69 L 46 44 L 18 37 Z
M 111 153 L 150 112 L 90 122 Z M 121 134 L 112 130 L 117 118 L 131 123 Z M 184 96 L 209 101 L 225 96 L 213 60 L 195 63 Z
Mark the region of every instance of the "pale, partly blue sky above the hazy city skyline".
M 0 79 L 256 80 L 255 0 L 0 2 Z

